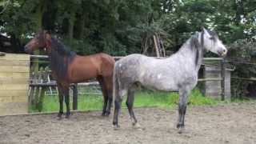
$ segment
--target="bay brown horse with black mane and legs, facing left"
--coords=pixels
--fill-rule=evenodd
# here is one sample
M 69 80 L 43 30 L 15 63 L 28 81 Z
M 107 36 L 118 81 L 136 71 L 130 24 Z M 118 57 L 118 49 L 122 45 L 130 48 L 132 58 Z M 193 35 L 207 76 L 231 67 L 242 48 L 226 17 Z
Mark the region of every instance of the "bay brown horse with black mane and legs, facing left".
M 50 58 L 53 78 L 57 81 L 59 95 L 59 113 L 62 118 L 63 98 L 66 103 L 66 118 L 70 117 L 70 83 L 86 82 L 96 78 L 102 88 L 102 115 L 109 115 L 112 104 L 114 58 L 108 54 L 80 56 L 67 50 L 57 38 L 46 30 L 40 30 L 25 46 L 26 53 L 32 54 L 35 49 L 46 49 Z

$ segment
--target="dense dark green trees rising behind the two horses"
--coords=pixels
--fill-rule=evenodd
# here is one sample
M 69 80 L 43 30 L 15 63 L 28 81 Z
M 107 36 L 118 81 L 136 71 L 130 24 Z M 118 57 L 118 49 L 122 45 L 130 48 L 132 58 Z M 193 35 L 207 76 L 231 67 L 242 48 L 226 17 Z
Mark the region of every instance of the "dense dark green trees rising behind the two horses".
M 175 51 L 201 26 L 217 30 L 226 44 L 255 36 L 255 6 L 223 0 L 12 0 L 0 30 L 24 42 L 44 28 L 78 53 L 113 55 L 141 53 L 143 40 L 160 33 L 166 49 Z

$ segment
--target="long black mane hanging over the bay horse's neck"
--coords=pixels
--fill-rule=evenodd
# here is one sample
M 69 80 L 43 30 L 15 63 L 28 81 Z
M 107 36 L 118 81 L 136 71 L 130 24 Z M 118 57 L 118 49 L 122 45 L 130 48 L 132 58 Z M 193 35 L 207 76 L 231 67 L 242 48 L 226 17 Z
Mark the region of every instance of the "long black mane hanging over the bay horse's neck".
M 51 38 L 50 47 L 50 67 L 58 78 L 66 79 L 69 63 L 73 61 L 76 55 L 59 42 L 57 38 Z

